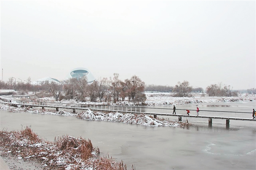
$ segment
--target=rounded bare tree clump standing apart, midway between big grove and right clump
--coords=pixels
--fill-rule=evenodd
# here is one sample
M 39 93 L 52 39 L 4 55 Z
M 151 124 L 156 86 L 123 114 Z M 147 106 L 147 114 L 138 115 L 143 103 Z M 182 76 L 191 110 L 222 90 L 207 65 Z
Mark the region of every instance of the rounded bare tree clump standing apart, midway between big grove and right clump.
M 190 97 L 191 96 L 192 86 L 189 86 L 188 81 L 182 83 L 178 82 L 178 85 L 175 85 L 173 91 L 177 93 L 179 97 Z

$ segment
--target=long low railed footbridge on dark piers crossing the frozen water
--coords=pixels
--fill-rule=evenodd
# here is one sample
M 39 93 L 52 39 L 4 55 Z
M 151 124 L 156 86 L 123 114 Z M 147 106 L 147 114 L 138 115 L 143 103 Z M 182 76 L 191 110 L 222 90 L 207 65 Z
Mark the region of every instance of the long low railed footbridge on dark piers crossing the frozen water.
M 252 113 L 238 111 L 200 110 L 199 115 L 197 116 L 196 110 L 192 109 L 190 109 L 190 115 L 187 115 L 185 109 L 176 109 L 177 114 L 172 114 L 173 109 L 171 108 L 156 108 L 146 106 L 96 106 L 81 103 L 58 103 L 20 100 L 12 100 L 11 102 L 0 101 L 0 103 L 21 107 L 41 107 L 42 109 L 56 108 L 56 111 L 59 111 L 59 108 L 71 109 L 73 110 L 73 113 L 76 113 L 76 110 L 91 109 L 104 112 L 122 112 L 132 114 L 144 113 L 148 115 L 153 115 L 154 118 L 156 118 L 157 116 L 176 116 L 178 117 L 179 121 L 182 121 L 182 117 L 208 118 L 209 123 L 212 123 L 212 119 L 225 119 L 226 124 L 229 124 L 230 120 L 256 121 L 256 119 L 252 119 Z

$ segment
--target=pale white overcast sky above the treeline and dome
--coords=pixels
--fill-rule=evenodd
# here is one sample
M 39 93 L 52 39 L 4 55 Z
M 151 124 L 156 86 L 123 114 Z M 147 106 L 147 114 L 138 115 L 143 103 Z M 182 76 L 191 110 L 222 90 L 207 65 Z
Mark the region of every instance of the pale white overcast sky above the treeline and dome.
M 256 86 L 255 1 L 1 1 L 1 80 Z

